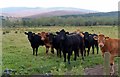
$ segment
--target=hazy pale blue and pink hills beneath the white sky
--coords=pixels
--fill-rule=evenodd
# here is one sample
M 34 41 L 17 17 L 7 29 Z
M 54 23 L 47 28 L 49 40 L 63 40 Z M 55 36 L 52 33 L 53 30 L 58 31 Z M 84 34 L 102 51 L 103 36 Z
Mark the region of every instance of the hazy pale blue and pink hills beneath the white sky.
M 11 17 L 41 17 L 41 16 L 61 16 L 94 13 L 96 11 L 72 7 L 53 7 L 53 8 L 27 8 L 27 7 L 8 7 L 0 8 L 3 16 Z M 1 14 L 0 14 L 1 15 Z

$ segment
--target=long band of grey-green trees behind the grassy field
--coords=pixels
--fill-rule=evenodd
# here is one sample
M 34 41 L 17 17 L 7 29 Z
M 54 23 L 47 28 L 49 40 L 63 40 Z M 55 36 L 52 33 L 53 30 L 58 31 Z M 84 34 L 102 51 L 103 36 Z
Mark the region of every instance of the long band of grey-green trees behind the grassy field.
M 56 16 L 42 18 L 2 19 L 3 27 L 97 26 L 118 25 L 117 16 Z

